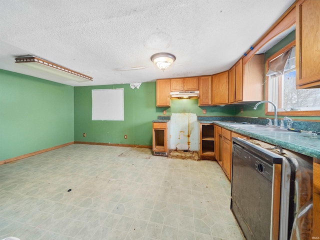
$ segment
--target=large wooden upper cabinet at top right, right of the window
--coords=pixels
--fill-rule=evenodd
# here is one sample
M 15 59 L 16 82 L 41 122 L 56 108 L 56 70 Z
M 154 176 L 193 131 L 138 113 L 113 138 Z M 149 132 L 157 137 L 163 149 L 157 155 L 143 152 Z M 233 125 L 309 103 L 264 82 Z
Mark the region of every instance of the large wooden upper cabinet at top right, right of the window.
M 296 2 L 296 87 L 320 87 L 320 1 Z

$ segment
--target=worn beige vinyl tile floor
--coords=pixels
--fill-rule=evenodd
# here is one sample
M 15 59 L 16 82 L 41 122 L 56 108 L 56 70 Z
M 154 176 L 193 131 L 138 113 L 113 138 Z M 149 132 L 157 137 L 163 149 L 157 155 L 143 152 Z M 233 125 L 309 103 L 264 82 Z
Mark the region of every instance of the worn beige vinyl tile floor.
M 216 161 L 147 148 L 72 144 L 0 165 L 0 239 L 243 239 L 229 208 Z

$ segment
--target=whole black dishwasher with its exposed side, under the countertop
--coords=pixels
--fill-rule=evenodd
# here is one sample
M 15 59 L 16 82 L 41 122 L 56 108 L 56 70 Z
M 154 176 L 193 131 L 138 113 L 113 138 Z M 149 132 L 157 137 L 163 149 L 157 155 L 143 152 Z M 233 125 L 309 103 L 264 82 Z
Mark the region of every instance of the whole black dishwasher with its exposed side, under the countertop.
M 312 157 L 232 137 L 231 210 L 246 239 L 311 239 Z

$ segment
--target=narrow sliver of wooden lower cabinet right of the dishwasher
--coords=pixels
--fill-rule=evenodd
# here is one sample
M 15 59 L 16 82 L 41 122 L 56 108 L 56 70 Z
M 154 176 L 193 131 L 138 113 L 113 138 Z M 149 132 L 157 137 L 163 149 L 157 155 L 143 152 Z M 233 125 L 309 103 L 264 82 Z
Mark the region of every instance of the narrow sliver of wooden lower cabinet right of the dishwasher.
M 312 236 L 320 237 L 320 159 L 313 158 Z M 319 239 L 319 238 L 314 238 Z

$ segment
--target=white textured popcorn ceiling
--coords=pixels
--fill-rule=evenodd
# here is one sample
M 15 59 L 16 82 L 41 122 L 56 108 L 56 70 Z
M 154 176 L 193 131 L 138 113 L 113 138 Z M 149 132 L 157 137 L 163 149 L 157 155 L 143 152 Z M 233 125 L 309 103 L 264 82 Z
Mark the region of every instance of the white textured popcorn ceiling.
M 72 86 L 229 69 L 294 0 L 0 0 L 0 68 Z M 161 71 L 156 52 L 175 55 Z M 93 77 L 78 83 L 18 63 L 35 55 Z M 143 69 L 130 69 L 145 67 Z

